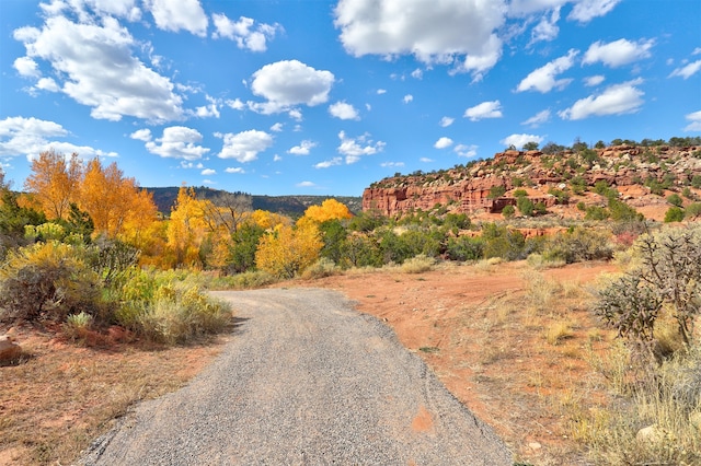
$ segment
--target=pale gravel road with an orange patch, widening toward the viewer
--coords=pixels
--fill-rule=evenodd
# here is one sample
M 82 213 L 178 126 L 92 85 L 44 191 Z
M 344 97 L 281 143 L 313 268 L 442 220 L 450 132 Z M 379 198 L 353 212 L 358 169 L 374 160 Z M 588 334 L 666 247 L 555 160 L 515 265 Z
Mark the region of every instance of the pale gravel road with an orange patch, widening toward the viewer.
M 146 401 L 83 465 L 512 465 L 394 333 L 342 294 L 216 292 L 240 324 L 186 387 Z

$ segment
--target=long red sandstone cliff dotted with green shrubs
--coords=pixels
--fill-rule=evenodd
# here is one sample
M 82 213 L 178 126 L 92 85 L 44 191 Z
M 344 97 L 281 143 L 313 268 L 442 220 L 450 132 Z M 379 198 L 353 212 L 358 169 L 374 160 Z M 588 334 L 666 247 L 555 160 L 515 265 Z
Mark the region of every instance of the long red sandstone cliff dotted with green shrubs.
M 537 191 L 529 190 L 528 197 L 533 202 L 552 207 L 556 198 L 547 194 L 547 188 L 568 187 L 572 177 L 577 175 L 588 186 L 606 180 L 609 186 L 617 187 L 642 184 L 648 178 L 663 182 L 671 174 L 679 189 L 689 186 L 693 176 L 701 175 L 700 147 L 612 145 L 593 149 L 588 155 L 587 161 L 582 153 L 572 150 L 552 155 L 507 150 L 467 167 L 389 177 L 365 189 L 363 210 L 395 217 L 412 210 L 428 211 L 440 205 L 453 213 L 499 213 L 505 206 L 516 203 L 508 195 L 517 188 L 516 179 L 540 186 Z M 494 186 L 503 186 L 505 195 L 490 198 L 490 189 Z

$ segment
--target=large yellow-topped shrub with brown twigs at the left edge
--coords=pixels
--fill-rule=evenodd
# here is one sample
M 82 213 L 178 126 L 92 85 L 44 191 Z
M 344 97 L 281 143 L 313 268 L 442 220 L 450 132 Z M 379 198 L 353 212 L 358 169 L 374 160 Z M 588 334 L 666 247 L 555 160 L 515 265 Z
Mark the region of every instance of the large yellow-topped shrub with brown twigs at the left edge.
M 10 252 L 0 268 L 0 321 L 62 322 L 101 308 L 100 278 L 82 246 L 49 241 Z

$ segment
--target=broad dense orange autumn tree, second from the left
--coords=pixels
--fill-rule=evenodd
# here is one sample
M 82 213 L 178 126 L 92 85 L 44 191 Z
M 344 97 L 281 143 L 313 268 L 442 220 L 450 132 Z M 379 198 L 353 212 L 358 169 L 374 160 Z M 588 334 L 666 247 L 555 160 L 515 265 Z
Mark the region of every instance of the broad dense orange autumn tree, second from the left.
M 100 159 L 88 162 L 79 195 L 78 206 L 92 219 L 95 233 L 137 238 L 157 221 L 152 197 L 134 178 L 126 178 L 116 163 L 104 167 Z

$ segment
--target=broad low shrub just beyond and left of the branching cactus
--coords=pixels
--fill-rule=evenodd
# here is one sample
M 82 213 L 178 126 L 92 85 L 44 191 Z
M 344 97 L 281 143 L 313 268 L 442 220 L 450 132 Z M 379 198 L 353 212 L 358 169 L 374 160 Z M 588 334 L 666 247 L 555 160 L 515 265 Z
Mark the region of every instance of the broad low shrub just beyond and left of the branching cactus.
M 606 231 L 579 226 L 550 237 L 542 254 L 548 261 L 563 260 L 567 264 L 608 260 L 613 257 L 610 240 L 610 234 Z

